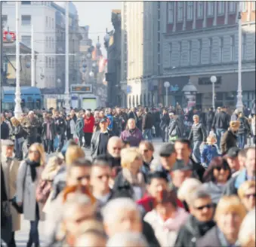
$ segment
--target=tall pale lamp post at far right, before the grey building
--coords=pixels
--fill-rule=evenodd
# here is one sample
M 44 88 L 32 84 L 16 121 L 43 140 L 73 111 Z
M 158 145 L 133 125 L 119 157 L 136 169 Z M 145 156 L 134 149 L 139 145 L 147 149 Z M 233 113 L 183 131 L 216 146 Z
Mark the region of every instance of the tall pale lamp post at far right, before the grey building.
M 238 14 L 238 87 L 237 87 L 237 102 L 236 108 L 239 111 L 242 111 L 242 81 L 241 81 L 241 72 L 242 72 L 242 20 L 241 20 L 241 4 L 239 2 L 239 14 Z

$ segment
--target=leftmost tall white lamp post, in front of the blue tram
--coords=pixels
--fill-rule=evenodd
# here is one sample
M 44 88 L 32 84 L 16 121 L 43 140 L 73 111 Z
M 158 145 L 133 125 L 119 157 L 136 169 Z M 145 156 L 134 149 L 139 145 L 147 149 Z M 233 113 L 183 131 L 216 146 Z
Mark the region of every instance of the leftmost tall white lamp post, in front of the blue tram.
M 16 2 L 16 93 L 15 93 L 15 108 L 14 115 L 16 118 L 21 117 L 21 99 L 20 99 L 20 39 L 19 39 L 19 29 L 20 29 L 20 2 Z

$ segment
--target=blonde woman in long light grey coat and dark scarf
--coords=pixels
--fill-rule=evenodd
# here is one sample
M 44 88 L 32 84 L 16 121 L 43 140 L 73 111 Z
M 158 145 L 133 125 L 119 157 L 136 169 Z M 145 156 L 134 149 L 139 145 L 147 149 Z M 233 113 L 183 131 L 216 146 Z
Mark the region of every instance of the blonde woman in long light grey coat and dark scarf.
M 45 219 L 43 204 L 36 201 L 36 188 L 45 166 L 45 150 L 43 145 L 34 143 L 29 147 L 26 160 L 20 163 L 17 175 L 17 203 L 23 205 L 23 214 L 30 221 L 28 247 L 34 243 L 39 246 L 39 220 Z

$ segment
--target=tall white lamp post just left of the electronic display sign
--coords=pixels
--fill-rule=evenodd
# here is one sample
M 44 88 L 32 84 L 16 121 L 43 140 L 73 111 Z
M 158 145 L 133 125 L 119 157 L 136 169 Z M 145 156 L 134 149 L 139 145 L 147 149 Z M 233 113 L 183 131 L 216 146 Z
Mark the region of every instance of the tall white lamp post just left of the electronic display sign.
M 66 47 L 65 47 L 65 56 L 66 56 L 66 64 L 65 64 L 65 108 L 66 111 L 69 112 L 69 2 L 66 2 Z

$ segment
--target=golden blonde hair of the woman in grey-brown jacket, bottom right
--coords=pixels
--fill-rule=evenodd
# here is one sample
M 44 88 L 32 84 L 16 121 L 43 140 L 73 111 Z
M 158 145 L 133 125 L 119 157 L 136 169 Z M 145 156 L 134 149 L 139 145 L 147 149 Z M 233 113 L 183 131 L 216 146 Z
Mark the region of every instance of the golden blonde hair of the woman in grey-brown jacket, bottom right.
M 243 219 L 246 215 L 245 206 L 239 200 L 237 196 L 224 196 L 221 197 L 219 203 L 217 203 L 217 208 L 215 211 L 215 220 L 219 218 L 225 212 L 237 212 L 239 216 Z

